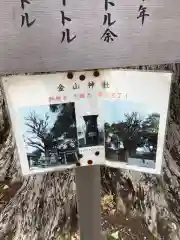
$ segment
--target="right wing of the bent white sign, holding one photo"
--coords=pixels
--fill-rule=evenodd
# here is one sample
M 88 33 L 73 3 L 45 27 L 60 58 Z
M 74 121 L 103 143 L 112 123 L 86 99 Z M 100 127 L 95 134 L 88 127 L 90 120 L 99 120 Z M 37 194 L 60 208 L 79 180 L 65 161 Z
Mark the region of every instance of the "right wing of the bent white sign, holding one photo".
M 160 173 L 171 74 L 114 72 L 111 79 L 103 102 L 106 164 Z

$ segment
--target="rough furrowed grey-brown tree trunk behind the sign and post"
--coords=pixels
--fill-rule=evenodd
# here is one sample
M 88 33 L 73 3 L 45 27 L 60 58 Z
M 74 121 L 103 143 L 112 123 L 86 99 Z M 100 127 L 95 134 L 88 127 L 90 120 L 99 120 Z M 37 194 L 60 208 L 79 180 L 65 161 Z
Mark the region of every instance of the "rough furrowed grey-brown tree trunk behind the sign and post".
M 141 67 L 175 73 L 162 175 L 102 168 L 102 191 L 116 196 L 117 210 L 142 217 L 159 239 L 180 239 L 180 64 Z M 76 229 L 74 171 L 22 178 L 15 143 L 0 91 L 0 180 L 22 186 L 0 214 L 0 239 L 56 240 Z

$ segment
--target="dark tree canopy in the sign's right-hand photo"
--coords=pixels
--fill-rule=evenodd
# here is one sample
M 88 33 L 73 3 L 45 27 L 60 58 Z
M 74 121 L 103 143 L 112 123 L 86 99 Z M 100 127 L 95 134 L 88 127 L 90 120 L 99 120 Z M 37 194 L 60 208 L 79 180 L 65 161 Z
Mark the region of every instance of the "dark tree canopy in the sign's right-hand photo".
M 158 113 L 152 113 L 146 118 L 141 118 L 138 112 L 124 114 L 125 120 L 112 125 L 105 123 L 105 136 L 109 133 L 118 136 L 124 148 L 135 151 L 138 147 L 148 147 L 150 152 L 157 148 L 157 135 L 159 130 Z

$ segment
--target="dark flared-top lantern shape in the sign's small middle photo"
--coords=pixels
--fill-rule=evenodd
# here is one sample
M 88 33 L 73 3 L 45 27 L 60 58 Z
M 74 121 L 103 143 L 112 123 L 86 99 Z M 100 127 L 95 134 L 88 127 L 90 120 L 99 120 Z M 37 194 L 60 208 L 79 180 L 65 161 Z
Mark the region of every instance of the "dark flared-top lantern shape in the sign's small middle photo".
M 99 130 L 97 126 L 98 115 L 83 116 L 86 124 L 85 140 L 87 146 L 95 146 L 99 143 Z

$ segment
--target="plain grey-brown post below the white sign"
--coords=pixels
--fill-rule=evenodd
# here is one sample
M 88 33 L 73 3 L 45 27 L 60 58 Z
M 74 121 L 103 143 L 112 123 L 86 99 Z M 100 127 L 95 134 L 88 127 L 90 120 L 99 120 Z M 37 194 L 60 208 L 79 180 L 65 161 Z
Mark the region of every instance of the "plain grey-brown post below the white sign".
M 100 166 L 76 169 L 80 240 L 101 240 Z

